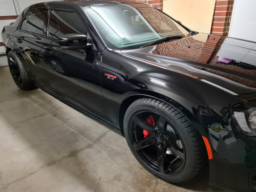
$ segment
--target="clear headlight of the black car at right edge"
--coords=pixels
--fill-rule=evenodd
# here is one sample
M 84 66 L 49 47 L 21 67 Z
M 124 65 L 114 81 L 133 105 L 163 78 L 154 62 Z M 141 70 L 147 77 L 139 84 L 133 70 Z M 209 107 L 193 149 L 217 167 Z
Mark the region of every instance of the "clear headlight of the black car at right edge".
M 246 136 L 256 136 L 256 107 L 246 111 L 233 111 L 239 130 Z

